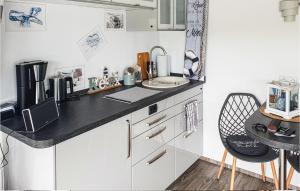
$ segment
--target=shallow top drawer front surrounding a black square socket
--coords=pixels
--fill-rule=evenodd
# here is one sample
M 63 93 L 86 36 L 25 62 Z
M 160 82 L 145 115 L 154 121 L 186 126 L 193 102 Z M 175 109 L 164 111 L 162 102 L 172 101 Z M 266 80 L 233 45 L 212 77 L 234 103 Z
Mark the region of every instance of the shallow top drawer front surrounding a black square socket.
M 148 117 L 151 117 L 165 109 L 172 107 L 173 105 L 174 105 L 174 98 L 170 97 L 160 102 L 157 102 L 155 104 L 149 105 L 148 107 L 144 107 L 143 109 L 135 111 L 132 113 L 132 124 L 136 124 Z M 157 107 L 157 111 L 152 114 L 149 113 L 149 107 L 151 106 Z

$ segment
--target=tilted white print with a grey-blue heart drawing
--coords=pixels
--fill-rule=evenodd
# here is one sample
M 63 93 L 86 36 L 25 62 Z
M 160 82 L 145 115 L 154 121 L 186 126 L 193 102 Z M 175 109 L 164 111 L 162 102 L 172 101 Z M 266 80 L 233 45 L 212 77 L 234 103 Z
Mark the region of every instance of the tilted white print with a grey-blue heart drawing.
M 81 38 L 78 42 L 79 48 L 87 60 L 94 57 L 105 42 L 100 26 Z

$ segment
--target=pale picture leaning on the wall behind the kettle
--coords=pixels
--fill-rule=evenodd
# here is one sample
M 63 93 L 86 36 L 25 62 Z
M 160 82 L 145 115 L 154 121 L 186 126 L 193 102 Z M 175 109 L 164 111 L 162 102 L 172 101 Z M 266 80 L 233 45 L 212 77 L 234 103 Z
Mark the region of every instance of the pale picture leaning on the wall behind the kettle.
M 84 66 L 58 68 L 55 73 L 64 77 L 72 77 L 74 91 L 85 89 Z

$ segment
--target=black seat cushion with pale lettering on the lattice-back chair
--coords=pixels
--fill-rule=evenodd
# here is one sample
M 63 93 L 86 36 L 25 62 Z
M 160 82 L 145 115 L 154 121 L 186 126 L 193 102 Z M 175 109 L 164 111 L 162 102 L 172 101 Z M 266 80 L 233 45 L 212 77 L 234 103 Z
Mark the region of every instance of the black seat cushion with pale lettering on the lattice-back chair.
M 236 152 L 248 156 L 265 155 L 269 147 L 245 135 L 227 137 L 227 144 Z

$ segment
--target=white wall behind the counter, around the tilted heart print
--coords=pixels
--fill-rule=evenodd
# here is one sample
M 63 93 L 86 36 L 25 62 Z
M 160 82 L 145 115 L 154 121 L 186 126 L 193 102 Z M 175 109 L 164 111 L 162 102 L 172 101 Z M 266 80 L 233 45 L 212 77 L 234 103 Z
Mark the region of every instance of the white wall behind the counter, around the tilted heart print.
M 106 44 L 86 61 L 77 42 L 97 25 L 103 29 Z M 136 64 L 137 52 L 149 51 L 158 44 L 157 32 L 105 31 L 103 8 L 62 4 L 47 4 L 46 32 L 5 32 L 3 37 L 0 102 L 16 97 L 15 64 L 20 60 L 49 61 L 48 76 L 56 68 L 80 65 L 85 66 L 86 78 L 100 76 L 104 66 L 122 75 L 125 67 Z

